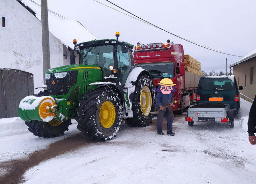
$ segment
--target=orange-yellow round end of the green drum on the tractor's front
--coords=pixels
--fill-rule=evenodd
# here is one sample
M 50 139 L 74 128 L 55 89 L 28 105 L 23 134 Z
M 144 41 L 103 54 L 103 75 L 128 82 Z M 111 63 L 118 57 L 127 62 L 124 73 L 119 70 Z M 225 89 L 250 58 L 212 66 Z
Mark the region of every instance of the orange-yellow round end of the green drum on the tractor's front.
M 40 102 L 40 104 L 38 106 L 38 113 L 39 113 L 40 118 L 43 121 L 49 122 L 54 118 L 55 114 L 52 112 L 49 112 L 49 107 L 52 107 L 54 105 L 56 105 L 54 100 L 49 97 L 44 98 Z

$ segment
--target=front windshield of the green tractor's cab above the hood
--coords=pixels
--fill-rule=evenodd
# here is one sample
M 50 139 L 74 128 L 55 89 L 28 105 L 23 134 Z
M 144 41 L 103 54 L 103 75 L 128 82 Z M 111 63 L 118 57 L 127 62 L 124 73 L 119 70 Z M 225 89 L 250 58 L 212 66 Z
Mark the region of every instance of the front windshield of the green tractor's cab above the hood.
M 102 45 L 81 49 L 80 64 L 97 65 L 103 68 L 103 75 L 109 76 L 109 66 L 114 66 L 113 45 Z

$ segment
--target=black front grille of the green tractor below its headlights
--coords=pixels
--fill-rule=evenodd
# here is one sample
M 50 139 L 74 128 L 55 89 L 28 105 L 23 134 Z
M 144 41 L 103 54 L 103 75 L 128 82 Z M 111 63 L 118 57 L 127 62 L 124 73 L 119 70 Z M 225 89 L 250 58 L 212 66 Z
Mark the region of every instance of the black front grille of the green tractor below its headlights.
M 78 71 L 68 71 L 64 78 L 58 79 L 51 73 L 51 77 L 45 80 L 49 94 L 53 96 L 68 94 L 77 82 L 77 74 Z

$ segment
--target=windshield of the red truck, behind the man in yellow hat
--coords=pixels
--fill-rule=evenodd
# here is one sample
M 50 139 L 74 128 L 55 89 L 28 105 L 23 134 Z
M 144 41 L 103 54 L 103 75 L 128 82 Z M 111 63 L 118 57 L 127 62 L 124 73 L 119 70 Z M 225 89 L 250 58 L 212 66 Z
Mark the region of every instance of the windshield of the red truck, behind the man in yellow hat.
M 142 67 L 150 72 L 152 78 L 174 77 L 174 62 L 168 63 L 140 63 L 136 66 Z

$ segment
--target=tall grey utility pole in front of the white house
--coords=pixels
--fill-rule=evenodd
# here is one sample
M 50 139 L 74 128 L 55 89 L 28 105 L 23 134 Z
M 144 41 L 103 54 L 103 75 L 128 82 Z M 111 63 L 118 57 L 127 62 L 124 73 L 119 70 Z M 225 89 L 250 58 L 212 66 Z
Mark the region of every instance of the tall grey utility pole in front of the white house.
M 49 44 L 49 27 L 48 27 L 48 7 L 47 0 L 41 0 L 41 21 L 42 21 L 42 46 L 43 46 L 43 77 L 44 72 L 51 68 L 50 62 L 50 44 Z

